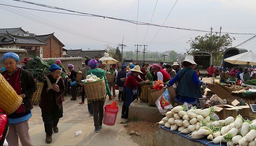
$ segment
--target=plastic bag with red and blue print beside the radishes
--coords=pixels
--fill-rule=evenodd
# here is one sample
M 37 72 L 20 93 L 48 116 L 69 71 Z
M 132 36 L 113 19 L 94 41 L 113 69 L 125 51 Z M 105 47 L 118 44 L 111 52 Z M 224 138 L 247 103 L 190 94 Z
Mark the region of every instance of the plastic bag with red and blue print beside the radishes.
M 170 103 L 170 94 L 168 90 L 166 89 L 164 93 L 157 99 L 155 102 L 155 105 L 157 105 L 158 111 L 160 113 L 166 113 L 167 109 L 173 108 L 173 106 Z

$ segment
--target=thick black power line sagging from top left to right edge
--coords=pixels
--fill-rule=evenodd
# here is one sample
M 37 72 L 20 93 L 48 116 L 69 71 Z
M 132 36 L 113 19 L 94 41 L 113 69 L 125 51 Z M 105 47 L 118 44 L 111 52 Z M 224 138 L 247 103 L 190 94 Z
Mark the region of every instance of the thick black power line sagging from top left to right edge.
M 74 12 L 74 13 L 80 13 L 80 14 L 86 14 L 86 15 L 91 15 L 91 16 L 96 16 L 96 17 L 102 17 L 104 19 L 109 18 L 109 19 L 114 19 L 114 20 L 118 20 L 118 21 L 124 21 L 124 22 L 128 22 L 128 23 L 138 24 L 138 25 L 149 25 L 149 26 L 155 26 L 155 27 L 165 27 L 165 28 L 174 28 L 174 29 L 178 29 L 178 30 L 198 31 L 198 32 L 204 32 L 204 33 L 210 33 L 210 31 L 204 31 L 204 30 L 197 30 L 197 29 L 191 29 L 191 28 L 180 28 L 180 27 L 172 27 L 172 26 L 163 26 L 163 25 L 161 26 L 161 25 L 158 25 L 158 24 L 150 24 L 150 23 L 145 23 L 145 22 L 140 22 L 140 21 L 126 20 L 126 19 L 122 19 L 122 18 L 114 18 L 114 17 L 100 16 L 100 15 L 96 15 L 96 14 L 82 13 L 82 12 L 63 9 L 63 8 L 59 8 L 59 7 L 47 6 L 47 5 L 38 4 L 38 3 L 32 3 L 32 2 L 24 1 L 24 0 L 13 0 L 13 1 L 19 1 L 19 2 L 22 2 L 22 3 L 34 4 L 34 5 L 37 5 L 37 6 L 47 7 L 47 8 L 50 8 L 50 9 L 65 10 L 65 11 L 70 11 L 70 12 Z M 219 33 L 219 32 L 213 32 L 213 33 Z M 224 34 L 255 35 L 255 34 L 252 34 L 252 33 L 224 33 Z

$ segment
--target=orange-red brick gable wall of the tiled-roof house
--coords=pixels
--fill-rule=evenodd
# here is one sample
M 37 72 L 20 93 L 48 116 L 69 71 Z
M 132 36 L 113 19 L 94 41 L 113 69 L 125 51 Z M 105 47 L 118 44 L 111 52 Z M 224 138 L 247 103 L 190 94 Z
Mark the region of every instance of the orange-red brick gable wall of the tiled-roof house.
M 43 46 L 43 58 L 62 57 L 62 45 L 54 37 L 48 38 L 45 42 L 49 44 Z

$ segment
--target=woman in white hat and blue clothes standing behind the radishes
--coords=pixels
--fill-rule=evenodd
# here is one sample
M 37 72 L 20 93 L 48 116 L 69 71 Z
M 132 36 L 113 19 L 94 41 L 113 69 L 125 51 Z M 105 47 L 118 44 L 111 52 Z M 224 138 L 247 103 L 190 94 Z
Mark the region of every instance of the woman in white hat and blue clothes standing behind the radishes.
M 196 72 L 193 70 L 194 66 L 197 65 L 193 60 L 193 56 L 186 56 L 185 60 L 181 62 L 181 65 L 183 65 L 184 68 L 168 82 L 167 86 L 172 86 L 178 81 L 175 101 L 181 105 L 187 102 L 191 105 L 198 106 L 198 98 L 202 98 L 201 85 L 213 86 L 213 84 L 203 83 L 198 79 Z

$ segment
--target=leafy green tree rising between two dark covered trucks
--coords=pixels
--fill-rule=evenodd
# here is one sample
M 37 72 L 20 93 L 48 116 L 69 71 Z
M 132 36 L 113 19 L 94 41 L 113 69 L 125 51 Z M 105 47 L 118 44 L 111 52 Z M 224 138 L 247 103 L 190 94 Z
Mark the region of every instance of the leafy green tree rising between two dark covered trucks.
M 187 54 L 194 55 L 196 52 L 209 52 L 212 56 L 212 64 L 220 65 L 223 52 L 231 47 L 233 40 L 229 34 L 224 34 L 219 37 L 216 34 L 205 34 L 204 36 L 197 36 L 194 40 L 188 40 L 190 48 L 187 50 Z

